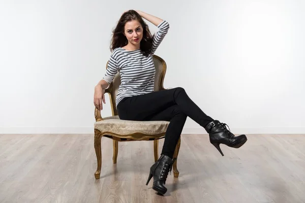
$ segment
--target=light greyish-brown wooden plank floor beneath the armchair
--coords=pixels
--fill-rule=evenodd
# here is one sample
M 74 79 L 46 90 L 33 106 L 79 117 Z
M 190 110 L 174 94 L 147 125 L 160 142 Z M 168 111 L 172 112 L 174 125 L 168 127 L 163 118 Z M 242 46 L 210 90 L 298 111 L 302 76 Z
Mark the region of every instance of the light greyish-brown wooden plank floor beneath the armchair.
M 163 140 L 160 141 L 159 153 Z M 102 173 L 93 134 L 0 135 L 0 202 L 305 202 L 305 135 L 248 135 L 239 149 L 207 134 L 183 134 L 168 192 L 145 185 L 154 162 L 153 142 L 119 143 L 112 163 L 112 140 L 102 139 Z

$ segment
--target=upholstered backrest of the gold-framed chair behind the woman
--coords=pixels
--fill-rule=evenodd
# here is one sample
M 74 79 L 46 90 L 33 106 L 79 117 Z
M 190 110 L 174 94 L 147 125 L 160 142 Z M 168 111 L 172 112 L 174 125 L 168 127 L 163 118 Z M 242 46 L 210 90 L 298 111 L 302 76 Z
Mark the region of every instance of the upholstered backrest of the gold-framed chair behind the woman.
M 164 81 L 164 77 L 165 77 L 165 73 L 166 73 L 166 63 L 161 57 L 159 57 L 157 55 L 153 55 L 153 60 L 154 60 L 155 69 L 156 69 L 154 91 L 160 91 L 160 90 L 164 89 L 163 81 Z M 107 69 L 108 62 L 106 64 L 106 69 Z M 110 97 L 112 116 L 117 115 L 117 111 L 116 111 L 116 107 L 115 107 L 115 98 L 116 98 L 116 94 L 118 92 L 119 85 L 120 85 L 120 75 L 119 75 L 119 73 L 117 73 L 115 75 L 112 83 L 110 84 L 109 88 L 106 89 L 106 92 L 109 93 L 109 97 Z

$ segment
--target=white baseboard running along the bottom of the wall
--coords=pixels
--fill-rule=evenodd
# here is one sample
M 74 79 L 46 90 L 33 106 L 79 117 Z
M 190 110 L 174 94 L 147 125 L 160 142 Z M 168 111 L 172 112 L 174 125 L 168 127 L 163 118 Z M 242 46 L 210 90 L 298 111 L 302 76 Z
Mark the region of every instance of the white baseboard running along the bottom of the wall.
M 230 128 L 234 134 L 305 134 L 305 127 Z M 0 127 L 0 134 L 88 134 L 93 127 Z M 202 127 L 184 128 L 182 134 L 207 134 Z

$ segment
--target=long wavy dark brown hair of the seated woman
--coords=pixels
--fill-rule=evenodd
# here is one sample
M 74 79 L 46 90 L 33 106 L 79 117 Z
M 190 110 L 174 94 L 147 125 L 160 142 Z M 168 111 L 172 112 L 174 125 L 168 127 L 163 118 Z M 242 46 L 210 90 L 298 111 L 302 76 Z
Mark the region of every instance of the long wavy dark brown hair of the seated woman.
M 110 51 L 115 48 L 124 47 L 128 44 L 128 40 L 124 35 L 125 24 L 128 21 L 137 20 L 143 27 L 143 38 L 140 42 L 140 49 L 144 56 L 151 53 L 151 47 L 153 46 L 153 40 L 149 31 L 148 25 L 144 22 L 142 17 L 135 10 L 129 10 L 125 12 L 120 19 L 114 30 L 112 30 L 112 39 L 110 43 Z

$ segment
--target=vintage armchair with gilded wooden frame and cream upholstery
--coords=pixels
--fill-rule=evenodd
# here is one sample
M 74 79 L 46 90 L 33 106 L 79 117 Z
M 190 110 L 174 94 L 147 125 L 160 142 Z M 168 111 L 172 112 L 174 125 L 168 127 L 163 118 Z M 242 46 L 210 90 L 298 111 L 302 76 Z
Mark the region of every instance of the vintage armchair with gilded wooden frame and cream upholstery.
M 156 75 L 155 75 L 155 91 L 164 90 L 163 81 L 166 73 L 166 63 L 165 61 L 157 56 L 153 56 Z M 109 62 L 109 61 L 108 61 Z M 107 62 L 107 64 L 108 64 Z M 106 69 L 107 69 L 106 64 Z M 154 141 L 154 156 L 155 161 L 159 159 L 158 155 L 158 144 L 159 139 L 165 137 L 165 132 L 168 127 L 169 121 L 129 121 L 120 120 L 116 107 L 115 107 L 115 97 L 120 85 L 120 75 L 116 74 L 113 81 L 111 82 L 105 93 L 109 94 L 112 116 L 102 118 L 101 111 L 97 108 L 95 109 L 95 119 L 94 123 L 94 147 L 97 156 L 97 171 L 95 172 L 95 178 L 100 179 L 101 166 L 102 166 L 102 151 L 101 151 L 101 139 L 102 137 L 110 138 L 113 140 L 113 163 L 116 163 L 118 154 L 118 142 L 127 141 Z M 180 148 L 180 139 L 176 145 L 174 152 L 174 158 L 177 158 Z M 177 170 L 177 159 L 173 163 L 173 174 L 174 177 L 179 176 L 179 171 Z

